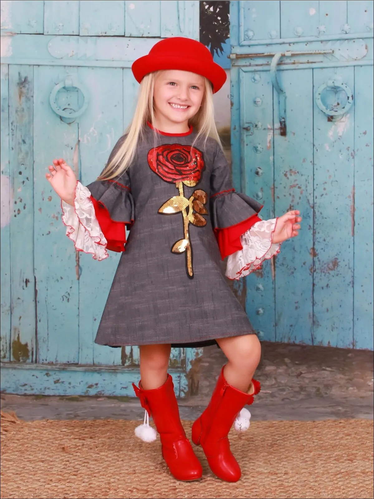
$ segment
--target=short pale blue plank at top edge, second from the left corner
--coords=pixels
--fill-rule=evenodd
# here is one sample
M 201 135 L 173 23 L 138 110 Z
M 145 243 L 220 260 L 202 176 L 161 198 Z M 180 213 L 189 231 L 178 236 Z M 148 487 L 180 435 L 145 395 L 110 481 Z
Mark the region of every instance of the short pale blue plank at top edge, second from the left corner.
M 44 34 L 79 34 L 79 0 L 45 0 Z

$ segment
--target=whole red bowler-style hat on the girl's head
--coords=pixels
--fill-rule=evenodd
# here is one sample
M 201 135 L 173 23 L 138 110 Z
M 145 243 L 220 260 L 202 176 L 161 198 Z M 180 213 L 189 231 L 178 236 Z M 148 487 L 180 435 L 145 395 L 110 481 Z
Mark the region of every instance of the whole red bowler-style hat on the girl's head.
M 137 59 L 131 66 L 135 79 L 140 83 L 144 76 L 154 71 L 179 69 L 200 74 L 213 85 L 213 93 L 218 92 L 226 81 L 226 72 L 213 62 L 207 47 L 191 38 L 175 36 L 165 38 L 154 45 L 148 55 Z

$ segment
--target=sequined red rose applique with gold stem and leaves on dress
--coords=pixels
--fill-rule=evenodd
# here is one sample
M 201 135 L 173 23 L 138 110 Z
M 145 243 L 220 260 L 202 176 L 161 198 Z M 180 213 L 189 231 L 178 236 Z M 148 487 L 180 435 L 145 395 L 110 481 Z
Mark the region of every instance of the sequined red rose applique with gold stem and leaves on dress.
M 149 151 L 148 164 L 159 177 L 165 182 L 174 183 L 179 190 L 179 196 L 173 196 L 164 203 L 159 213 L 163 215 L 182 213 L 184 238 L 174 243 L 172 252 L 185 253 L 187 275 L 192 279 L 192 247 L 188 226 L 190 223 L 197 227 L 206 225 L 206 220 L 202 215 L 208 213 L 204 207 L 208 197 L 206 192 L 198 189 L 187 199 L 184 185 L 194 187 L 200 180 L 201 171 L 204 168 L 202 152 L 191 146 L 165 144 Z

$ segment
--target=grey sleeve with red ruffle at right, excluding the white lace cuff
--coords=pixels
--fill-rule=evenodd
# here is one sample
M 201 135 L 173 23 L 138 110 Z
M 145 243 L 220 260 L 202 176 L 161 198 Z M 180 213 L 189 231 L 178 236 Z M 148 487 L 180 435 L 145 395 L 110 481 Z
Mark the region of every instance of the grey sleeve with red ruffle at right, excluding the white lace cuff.
M 210 194 L 212 226 L 223 260 L 243 249 L 241 236 L 261 221 L 258 214 L 262 205 L 232 188 L 230 169 L 218 144 L 210 178 Z

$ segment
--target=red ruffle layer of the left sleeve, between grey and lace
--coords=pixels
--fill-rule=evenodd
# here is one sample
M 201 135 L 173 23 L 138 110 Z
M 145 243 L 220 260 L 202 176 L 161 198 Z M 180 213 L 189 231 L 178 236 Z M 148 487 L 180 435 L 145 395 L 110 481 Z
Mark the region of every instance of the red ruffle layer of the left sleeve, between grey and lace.
M 107 250 L 125 251 L 126 226 L 131 226 L 130 222 L 116 222 L 110 218 L 107 208 L 91 196 L 91 201 L 95 208 L 95 215 L 107 240 Z

